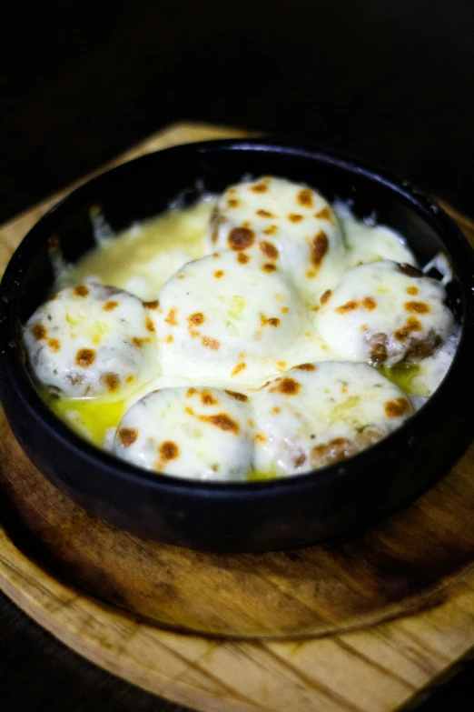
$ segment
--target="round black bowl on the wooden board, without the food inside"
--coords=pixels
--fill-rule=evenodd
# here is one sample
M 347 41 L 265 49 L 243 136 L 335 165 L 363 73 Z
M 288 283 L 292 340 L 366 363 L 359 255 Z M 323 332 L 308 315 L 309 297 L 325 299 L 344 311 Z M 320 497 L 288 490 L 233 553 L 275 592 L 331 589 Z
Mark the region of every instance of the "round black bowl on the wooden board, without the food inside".
M 219 484 L 150 474 L 84 442 L 44 405 L 25 369 L 20 325 L 48 295 L 48 242 L 75 261 L 94 244 L 89 210 L 115 230 L 154 216 L 179 197 L 222 191 L 242 175 L 282 175 L 408 238 L 420 263 L 442 251 L 462 322 L 449 373 L 429 402 L 379 444 L 342 464 L 273 481 Z M 407 183 L 304 145 L 214 141 L 143 156 L 94 178 L 55 206 L 25 237 L 1 287 L 1 398 L 18 442 L 55 486 L 85 509 L 143 537 L 185 547 L 258 551 L 308 544 L 386 514 L 445 474 L 474 434 L 474 258 L 458 227 Z

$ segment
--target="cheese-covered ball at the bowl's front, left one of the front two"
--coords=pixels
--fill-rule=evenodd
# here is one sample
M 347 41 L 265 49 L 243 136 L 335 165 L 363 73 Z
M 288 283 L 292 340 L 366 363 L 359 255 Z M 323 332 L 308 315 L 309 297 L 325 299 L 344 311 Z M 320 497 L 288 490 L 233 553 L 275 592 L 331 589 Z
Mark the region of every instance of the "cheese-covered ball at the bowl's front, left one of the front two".
M 217 388 L 163 388 L 123 416 L 114 453 L 149 470 L 202 480 L 244 480 L 252 466 L 247 396 Z

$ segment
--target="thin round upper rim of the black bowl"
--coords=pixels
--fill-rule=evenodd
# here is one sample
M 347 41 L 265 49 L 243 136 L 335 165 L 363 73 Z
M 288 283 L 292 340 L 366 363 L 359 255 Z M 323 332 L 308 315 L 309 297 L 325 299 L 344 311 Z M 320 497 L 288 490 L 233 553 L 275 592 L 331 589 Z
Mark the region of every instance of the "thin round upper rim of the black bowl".
M 159 161 L 160 156 L 169 155 L 170 153 L 175 155 L 189 153 L 206 155 L 222 151 L 270 151 L 272 154 L 295 155 L 303 160 L 312 160 L 324 165 L 329 164 L 336 168 L 341 168 L 345 172 L 349 171 L 355 175 L 365 177 L 370 182 L 388 188 L 403 203 L 410 205 L 439 235 L 449 253 L 453 272 L 459 279 L 463 318 L 461 319 L 459 344 L 448 373 L 435 393 L 400 428 L 390 433 L 389 436 L 382 438 L 375 445 L 364 449 L 347 460 L 298 475 L 250 482 L 194 480 L 134 466 L 89 443 L 77 435 L 59 416 L 56 416 L 39 395 L 25 365 L 21 362 L 18 349 L 11 347 L 12 345 L 16 346 L 18 341 L 18 317 L 16 315 L 15 298 L 12 298 L 12 294 L 15 295 L 15 290 L 18 290 L 21 286 L 25 264 L 29 262 L 28 257 L 31 259 L 35 255 L 38 239 L 54 234 L 54 226 L 59 224 L 71 210 L 74 210 L 75 206 L 82 204 L 87 199 L 88 193 L 92 192 L 96 186 L 100 186 L 111 179 L 120 179 L 121 175 L 133 172 L 138 165 Z M 183 187 L 184 190 L 185 188 Z M 377 206 L 374 206 L 374 210 L 377 211 Z M 369 468 L 373 469 L 374 465 L 383 466 L 383 461 L 389 455 L 390 449 L 410 446 L 410 440 L 414 436 L 416 437 L 416 432 L 422 429 L 423 423 L 427 423 L 430 418 L 436 415 L 436 411 L 442 405 L 443 399 L 449 396 L 451 386 L 459 380 L 459 362 L 465 356 L 469 347 L 469 338 L 474 339 L 474 251 L 469 246 L 459 226 L 424 191 L 413 186 L 410 181 L 395 177 L 384 169 L 374 167 L 365 161 L 360 161 L 352 155 L 334 151 L 325 146 L 311 144 L 310 142 L 294 141 L 287 138 L 279 138 L 278 136 L 270 139 L 230 138 L 176 145 L 139 156 L 94 176 L 81 186 L 74 188 L 73 191 L 64 196 L 35 223 L 35 226 L 28 231 L 16 248 L 14 255 L 5 268 L 0 285 L 0 336 L 2 340 L 5 338 L 5 342 L 2 343 L 0 348 L 0 363 L 3 366 L 4 377 L 11 382 L 15 389 L 16 397 L 23 401 L 24 406 L 30 410 L 41 426 L 48 431 L 48 435 L 59 439 L 72 455 L 88 460 L 91 466 L 100 467 L 103 470 L 105 468 L 109 475 L 112 474 L 117 479 L 125 478 L 132 480 L 137 485 L 157 487 L 160 490 L 163 490 L 163 488 L 174 492 L 180 490 L 182 494 L 193 492 L 194 494 L 199 493 L 200 496 L 228 495 L 237 498 L 245 497 L 251 493 L 253 496 L 266 496 L 275 490 L 304 489 L 311 486 L 315 478 L 319 480 L 320 486 L 325 486 L 329 483 L 337 486 L 339 480 L 346 480 L 348 477 L 352 479 L 358 476 L 360 471 Z

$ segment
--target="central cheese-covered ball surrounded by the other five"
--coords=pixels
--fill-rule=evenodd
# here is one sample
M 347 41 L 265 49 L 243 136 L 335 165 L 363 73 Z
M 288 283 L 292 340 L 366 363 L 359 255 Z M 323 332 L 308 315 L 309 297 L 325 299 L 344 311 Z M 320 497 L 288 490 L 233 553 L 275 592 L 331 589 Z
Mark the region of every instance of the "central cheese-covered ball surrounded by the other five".
M 232 379 L 300 332 L 299 301 L 281 270 L 241 252 L 188 263 L 159 297 L 163 373 Z

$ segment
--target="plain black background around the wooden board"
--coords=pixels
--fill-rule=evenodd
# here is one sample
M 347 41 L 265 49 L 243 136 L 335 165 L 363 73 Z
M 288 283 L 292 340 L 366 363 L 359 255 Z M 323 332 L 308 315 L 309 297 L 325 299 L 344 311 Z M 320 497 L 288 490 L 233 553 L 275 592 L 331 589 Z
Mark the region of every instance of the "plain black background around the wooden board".
M 0 222 L 183 119 L 335 146 L 474 215 L 472 0 L 46 0 L 1 17 Z M 471 710 L 472 672 L 424 712 Z M 0 687 L 5 712 L 177 709 L 2 596 Z

